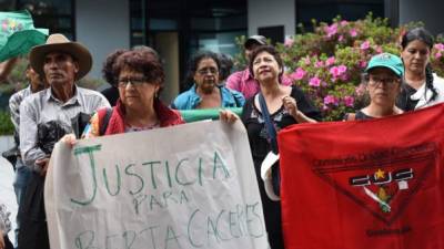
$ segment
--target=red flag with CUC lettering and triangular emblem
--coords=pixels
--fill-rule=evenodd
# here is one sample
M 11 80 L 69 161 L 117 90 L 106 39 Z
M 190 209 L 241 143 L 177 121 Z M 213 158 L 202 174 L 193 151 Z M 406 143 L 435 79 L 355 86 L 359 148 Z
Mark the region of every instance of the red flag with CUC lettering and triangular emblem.
M 279 134 L 289 249 L 444 249 L 444 105 Z

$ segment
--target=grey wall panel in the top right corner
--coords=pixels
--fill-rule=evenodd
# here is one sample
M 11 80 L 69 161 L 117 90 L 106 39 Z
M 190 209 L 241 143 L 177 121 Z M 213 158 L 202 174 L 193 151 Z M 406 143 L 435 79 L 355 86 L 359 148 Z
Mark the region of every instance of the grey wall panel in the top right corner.
M 442 0 L 400 0 L 400 24 L 422 21 L 433 34 L 444 33 Z

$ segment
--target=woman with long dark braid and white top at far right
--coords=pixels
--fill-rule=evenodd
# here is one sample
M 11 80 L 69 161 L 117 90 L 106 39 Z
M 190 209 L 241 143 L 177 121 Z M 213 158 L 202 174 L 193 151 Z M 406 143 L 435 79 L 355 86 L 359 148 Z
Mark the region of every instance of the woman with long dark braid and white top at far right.
M 401 40 L 405 75 L 397 106 L 412 111 L 444 102 L 444 79 L 432 72 L 430 56 L 434 41 L 424 28 L 406 32 Z

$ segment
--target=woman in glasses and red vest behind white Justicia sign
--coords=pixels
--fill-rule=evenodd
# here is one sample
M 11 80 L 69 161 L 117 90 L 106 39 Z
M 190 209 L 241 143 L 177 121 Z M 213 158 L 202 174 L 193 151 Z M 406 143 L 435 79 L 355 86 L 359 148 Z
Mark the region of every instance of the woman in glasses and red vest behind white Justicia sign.
M 145 50 L 127 51 L 113 65 L 119 100 L 115 106 L 99 110 L 83 137 L 129 133 L 183 124 L 179 112 L 159 100 L 165 74 L 158 56 Z M 65 138 L 68 141 L 73 137 Z

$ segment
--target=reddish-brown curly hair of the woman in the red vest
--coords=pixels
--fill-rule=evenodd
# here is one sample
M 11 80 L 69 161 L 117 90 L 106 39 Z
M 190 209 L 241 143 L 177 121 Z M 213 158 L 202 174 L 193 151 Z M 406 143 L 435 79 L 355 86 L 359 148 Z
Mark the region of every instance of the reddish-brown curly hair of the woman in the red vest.
M 127 66 L 142 73 L 148 82 L 159 83 L 162 89 L 165 81 L 165 72 L 155 54 L 145 50 L 131 50 L 122 53 L 112 66 L 112 72 L 117 79 Z

